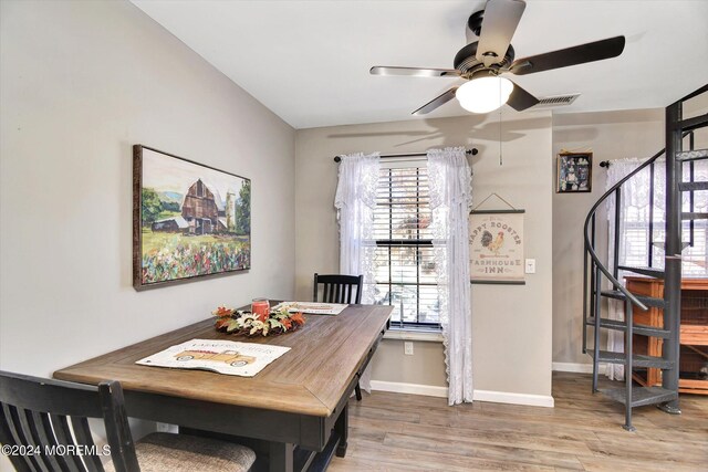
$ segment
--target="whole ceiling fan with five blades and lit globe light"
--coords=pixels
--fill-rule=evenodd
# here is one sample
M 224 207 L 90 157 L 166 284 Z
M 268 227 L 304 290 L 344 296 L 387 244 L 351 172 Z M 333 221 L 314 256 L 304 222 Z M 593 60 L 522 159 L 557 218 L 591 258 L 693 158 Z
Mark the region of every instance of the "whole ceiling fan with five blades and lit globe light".
M 517 25 L 527 4 L 523 0 L 488 0 L 483 10 L 472 13 L 467 22 L 479 41 L 473 41 L 455 55 L 455 69 L 424 69 L 376 65 L 373 75 L 408 75 L 419 77 L 459 76 L 467 82 L 435 97 L 413 115 L 425 115 L 457 97 L 473 113 L 488 113 L 508 103 L 518 112 L 539 99 L 501 74 L 534 74 L 586 62 L 602 61 L 622 54 L 624 36 L 608 38 L 514 61 L 511 45 Z M 483 21 L 482 21 L 483 20 Z

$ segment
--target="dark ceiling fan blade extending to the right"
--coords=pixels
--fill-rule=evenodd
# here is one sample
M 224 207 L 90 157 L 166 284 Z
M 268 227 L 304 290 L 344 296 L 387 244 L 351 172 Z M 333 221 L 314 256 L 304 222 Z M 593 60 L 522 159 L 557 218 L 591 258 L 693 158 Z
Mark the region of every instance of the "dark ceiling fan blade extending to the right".
M 516 75 L 535 74 L 537 72 L 550 71 L 552 69 L 616 57 L 624 51 L 624 36 L 615 36 L 546 52 L 545 54 L 532 55 L 531 57 L 522 57 L 514 61 L 511 67 L 509 67 L 509 71 Z

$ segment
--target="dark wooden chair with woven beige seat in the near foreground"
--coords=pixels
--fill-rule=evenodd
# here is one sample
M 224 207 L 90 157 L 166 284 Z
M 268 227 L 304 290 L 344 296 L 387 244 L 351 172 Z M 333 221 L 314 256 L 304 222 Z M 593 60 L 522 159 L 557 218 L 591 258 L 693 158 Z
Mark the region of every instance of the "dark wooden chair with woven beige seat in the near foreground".
M 133 443 L 121 384 L 98 387 L 0 371 L 0 443 L 24 471 L 248 471 L 256 453 L 214 439 L 157 432 Z M 88 418 L 103 419 L 107 445 Z M 102 464 L 101 455 L 112 461 Z M 105 469 L 104 469 L 105 468 Z

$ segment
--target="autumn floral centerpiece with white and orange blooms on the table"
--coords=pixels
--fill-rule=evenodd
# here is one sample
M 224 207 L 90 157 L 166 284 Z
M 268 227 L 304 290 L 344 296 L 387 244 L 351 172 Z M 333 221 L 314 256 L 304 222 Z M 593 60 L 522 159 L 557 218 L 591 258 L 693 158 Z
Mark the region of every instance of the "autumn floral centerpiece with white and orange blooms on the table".
M 290 313 L 288 306 L 270 310 L 268 314 L 219 306 L 211 314 L 217 317 L 217 331 L 246 336 L 279 335 L 293 332 L 305 324 L 302 313 Z

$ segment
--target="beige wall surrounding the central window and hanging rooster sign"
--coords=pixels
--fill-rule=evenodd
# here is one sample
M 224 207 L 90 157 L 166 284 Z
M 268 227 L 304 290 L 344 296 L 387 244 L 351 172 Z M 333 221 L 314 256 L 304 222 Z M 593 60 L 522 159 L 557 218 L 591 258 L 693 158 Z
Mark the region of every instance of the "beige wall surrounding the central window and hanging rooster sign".
M 337 166 L 332 158 L 354 151 L 416 153 L 433 147 L 477 147 L 471 157 L 473 198 L 491 192 L 527 210 L 527 258 L 538 272 L 524 286 L 472 286 L 475 388 L 551 394 L 551 117 L 506 112 L 499 165 L 498 115 L 467 116 L 299 130 L 295 150 L 295 293 L 308 297 L 314 272 L 339 270 L 333 207 Z M 485 208 L 500 208 L 492 203 Z M 399 340 L 386 340 L 373 361 L 373 379 L 445 386 L 439 343 L 416 342 L 414 356 Z

